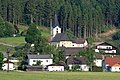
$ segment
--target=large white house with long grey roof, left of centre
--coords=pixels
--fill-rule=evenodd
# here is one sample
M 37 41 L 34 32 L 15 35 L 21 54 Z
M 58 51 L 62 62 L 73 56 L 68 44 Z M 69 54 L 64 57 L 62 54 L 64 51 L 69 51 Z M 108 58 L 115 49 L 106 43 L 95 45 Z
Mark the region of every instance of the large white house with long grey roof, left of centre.
M 37 61 L 41 61 L 42 66 L 47 66 L 53 63 L 52 55 L 37 55 L 37 54 L 28 54 L 27 57 L 28 65 L 32 66 L 37 63 Z

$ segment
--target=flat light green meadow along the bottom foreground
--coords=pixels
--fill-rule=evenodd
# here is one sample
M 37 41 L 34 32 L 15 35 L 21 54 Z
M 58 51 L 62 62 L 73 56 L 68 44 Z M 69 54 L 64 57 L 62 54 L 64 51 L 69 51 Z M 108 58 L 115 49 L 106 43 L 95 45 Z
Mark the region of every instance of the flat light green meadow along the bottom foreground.
M 0 72 L 0 80 L 119 80 L 110 72 Z

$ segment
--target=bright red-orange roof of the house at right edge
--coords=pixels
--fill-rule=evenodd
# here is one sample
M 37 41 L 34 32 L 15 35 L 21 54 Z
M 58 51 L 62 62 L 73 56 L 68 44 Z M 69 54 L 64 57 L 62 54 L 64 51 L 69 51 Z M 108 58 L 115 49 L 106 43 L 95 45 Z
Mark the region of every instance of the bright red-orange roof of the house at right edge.
M 117 57 L 106 57 L 105 63 L 113 66 L 116 63 L 120 63 L 120 58 Z

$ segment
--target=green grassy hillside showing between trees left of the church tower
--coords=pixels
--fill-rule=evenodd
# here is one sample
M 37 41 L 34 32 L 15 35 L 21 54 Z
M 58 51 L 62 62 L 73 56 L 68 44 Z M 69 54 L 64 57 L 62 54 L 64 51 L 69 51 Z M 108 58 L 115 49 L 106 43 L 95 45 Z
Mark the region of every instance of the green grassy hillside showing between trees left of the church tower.
M 20 25 L 18 26 L 20 33 L 25 32 L 28 29 L 28 26 Z M 38 26 L 39 30 L 41 31 L 42 36 L 48 37 L 50 36 L 50 30 L 47 27 Z M 0 38 L 0 51 L 5 52 L 6 48 L 13 48 L 15 46 L 20 46 L 25 44 L 25 37 L 24 36 L 17 36 L 17 37 L 7 37 L 7 38 Z

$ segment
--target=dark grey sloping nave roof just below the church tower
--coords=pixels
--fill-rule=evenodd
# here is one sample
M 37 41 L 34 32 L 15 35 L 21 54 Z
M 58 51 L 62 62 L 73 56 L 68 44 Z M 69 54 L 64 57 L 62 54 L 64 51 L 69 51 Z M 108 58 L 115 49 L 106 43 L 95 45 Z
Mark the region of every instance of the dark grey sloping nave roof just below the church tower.
M 66 33 L 59 33 L 56 34 L 55 37 L 52 39 L 52 42 L 60 42 L 60 41 L 71 41 Z

